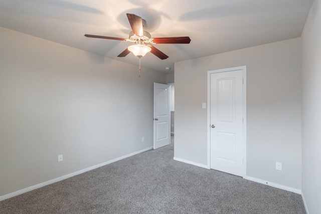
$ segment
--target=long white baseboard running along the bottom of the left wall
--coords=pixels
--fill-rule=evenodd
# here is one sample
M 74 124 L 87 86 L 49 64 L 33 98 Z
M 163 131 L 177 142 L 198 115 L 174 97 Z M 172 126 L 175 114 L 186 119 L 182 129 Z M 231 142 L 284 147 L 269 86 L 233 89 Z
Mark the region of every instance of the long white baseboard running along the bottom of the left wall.
M 9 194 L 5 194 L 3 196 L 0 196 L 0 201 L 8 199 L 8 198 L 11 198 L 11 197 L 14 197 L 14 196 L 17 196 L 19 194 L 23 194 L 25 192 L 28 192 L 28 191 L 31 191 L 31 190 L 34 190 L 34 189 L 38 189 L 40 187 L 43 187 L 43 186 L 46 186 L 46 185 L 49 185 L 49 184 L 52 184 L 52 183 L 55 183 L 55 182 L 58 182 L 58 181 L 61 181 L 61 180 L 64 180 L 64 179 L 67 179 L 69 177 L 73 177 L 75 175 L 78 175 L 78 174 L 81 174 L 81 173 L 84 173 L 84 172 L 99 168 L 101 166 L 108 165 L 110 163 L 116 162 L 116 161 L 124 159 L 126 157 L 133 156 L 135 154 L 139 154 L 139 153 L 144 152 L 144 151 L 148 151 L 150 149 L 152 149 L 152 147 L 148 147 L 148 148 L 142 149 L 140 151 L 136 151 L 136 152 L 133 152 L 133 153 L 130 153 L 130 154 L 127 154 L 127 155 L 124 155 L 124 156 L 109 160 L 109 161 L 104 162 L 104 163 L 100 163 L 100 164 L 97 164 L 97 165 L 94 165 L 94 166 L 91 166 L 91 167 L 88 167 L 88 168 L 85 168 L 85 169 L 82 169 L 82 170 L 79 170 L 79 171 L 76 171 L 76 172 L 73 172 L 73 173 L 70 173 L 70 174 L 66 174 L 66 175 L 61 176 L 61 177 L 57 177 L 57 178 L 52 179 L 52 180 L 48 180 L 48 181 L 45 181 L 45 182 L 42 182 L 42 183 L 39 183 L 39 184 L 36 184 L 36 185 L 33 185 L 33 186 L 29 186 L 27 188 L 24 188 L 24 189 L 21 189 L 21 190 L 18 190 L 18 191 L 9 193 Z

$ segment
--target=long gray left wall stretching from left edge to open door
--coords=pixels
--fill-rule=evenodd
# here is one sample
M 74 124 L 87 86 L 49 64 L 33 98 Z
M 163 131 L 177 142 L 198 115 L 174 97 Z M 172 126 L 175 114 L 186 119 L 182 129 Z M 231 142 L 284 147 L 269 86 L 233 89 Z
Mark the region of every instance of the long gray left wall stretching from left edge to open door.
M 0 38 L 0 196 L 152 146 L 165 74 L 138 78 L 136 66 L 4 28 Z

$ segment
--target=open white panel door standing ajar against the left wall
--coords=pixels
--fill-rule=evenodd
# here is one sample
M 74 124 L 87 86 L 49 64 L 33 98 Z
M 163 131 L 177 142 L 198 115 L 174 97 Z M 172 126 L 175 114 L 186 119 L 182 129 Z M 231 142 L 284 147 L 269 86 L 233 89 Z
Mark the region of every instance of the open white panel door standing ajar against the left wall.
M 154 83 L 154 149 L 171 143 L 170 87 Z

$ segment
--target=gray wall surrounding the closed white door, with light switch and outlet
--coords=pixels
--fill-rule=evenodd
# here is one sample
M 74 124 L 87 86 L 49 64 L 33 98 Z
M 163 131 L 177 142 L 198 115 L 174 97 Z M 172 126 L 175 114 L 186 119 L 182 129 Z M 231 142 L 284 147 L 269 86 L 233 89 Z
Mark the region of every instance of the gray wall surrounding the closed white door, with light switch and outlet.
M 244 65 L 247 176 L 301 189 L 300 38 L 176 63 L 175 157 L 207 165 L 207 71 Z

